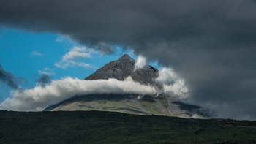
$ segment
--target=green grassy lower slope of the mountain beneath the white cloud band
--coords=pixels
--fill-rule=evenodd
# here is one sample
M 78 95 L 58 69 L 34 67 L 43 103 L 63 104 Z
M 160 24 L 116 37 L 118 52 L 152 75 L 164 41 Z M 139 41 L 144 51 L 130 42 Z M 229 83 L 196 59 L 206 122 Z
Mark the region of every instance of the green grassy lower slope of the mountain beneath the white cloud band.
M 92 94 L 86 96 L 74 96 L 59 102 L 59 104 L 47 107 L 45 111 L 75 111 L 75 110 L 100 110 L 121 112 L 129 114 L 154 114 L 167 116 L 188 117 L 188 110 L 181 110 L 180 105 L 168 102 L 163 95 L 158 97 L 144 96 L 137 99 L 136 95 L 127 94 Z M 171 107 L 169 107 L 171 105 Z M 180 115 L 177 115 L 180 114 Z

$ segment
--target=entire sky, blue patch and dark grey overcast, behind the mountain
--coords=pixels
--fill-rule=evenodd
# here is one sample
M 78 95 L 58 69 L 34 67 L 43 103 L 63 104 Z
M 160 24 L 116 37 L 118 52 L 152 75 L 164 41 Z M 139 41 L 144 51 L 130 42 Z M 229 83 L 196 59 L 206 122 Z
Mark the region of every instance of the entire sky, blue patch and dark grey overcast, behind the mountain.
M 189 104 L 255 120 L 255 7 L 255 0 L 0 1 L 0 64 L 33 87 L 48 77 L 83 79 L 132 51 L 173 69 Z M 46 70 L 55 75 L 39 80 Z M 8 80 L 1 89 L 17 87 Z

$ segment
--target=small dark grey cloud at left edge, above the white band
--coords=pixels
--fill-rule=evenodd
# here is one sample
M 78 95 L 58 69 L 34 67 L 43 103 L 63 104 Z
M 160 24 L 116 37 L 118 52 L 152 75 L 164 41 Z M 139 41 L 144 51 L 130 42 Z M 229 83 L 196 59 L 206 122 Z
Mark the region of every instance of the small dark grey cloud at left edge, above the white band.
M 10 88 L 18 89 L 18 82 L 23 80 L 22 77 L 16 78 L 12 73 L 4 71 L 0 64 L 0 81 L 6 83 Z

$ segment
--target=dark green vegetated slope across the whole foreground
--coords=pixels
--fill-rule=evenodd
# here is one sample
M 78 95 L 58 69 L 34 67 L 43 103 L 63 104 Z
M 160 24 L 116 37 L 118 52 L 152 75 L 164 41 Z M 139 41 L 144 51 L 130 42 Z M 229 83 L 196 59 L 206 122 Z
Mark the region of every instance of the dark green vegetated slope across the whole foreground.
M 0 143 L 256 143 L 256 121 L 0 110 Z

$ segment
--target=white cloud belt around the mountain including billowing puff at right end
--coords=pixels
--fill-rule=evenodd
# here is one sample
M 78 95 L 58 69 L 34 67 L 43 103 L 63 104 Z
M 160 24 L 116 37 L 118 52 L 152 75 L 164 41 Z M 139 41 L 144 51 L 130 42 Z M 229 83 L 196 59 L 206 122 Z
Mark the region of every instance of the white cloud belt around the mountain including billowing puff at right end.
M 173 80 L 176 80 L 174 82 Z M 42 75 L 36 80 L 36 87 L 23 91 L 10 91 L 10 98 L 1 103 L 4 110 L 40 111 L 49 105 L 54 105 L 73 96 L 88 94 L 137 94 L 140 96 L 157 96 L 165 93 L 178 99 L 187 99 L 187 87 L 184 80 L 177 77 L 172 69 L 164 68 L 159 71 L 156 82 L 162 85 L 159 90 L 154 86 L 142 85 L 127 77 L 124 81 L 108 80 L 79 80 L 66 77 L 61 80 L 50 80 L 48 75 Z M 172 83 L 170 83 L 172 82 Z

